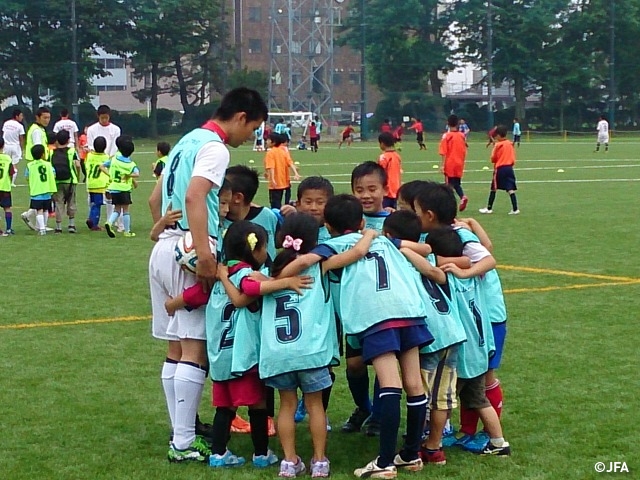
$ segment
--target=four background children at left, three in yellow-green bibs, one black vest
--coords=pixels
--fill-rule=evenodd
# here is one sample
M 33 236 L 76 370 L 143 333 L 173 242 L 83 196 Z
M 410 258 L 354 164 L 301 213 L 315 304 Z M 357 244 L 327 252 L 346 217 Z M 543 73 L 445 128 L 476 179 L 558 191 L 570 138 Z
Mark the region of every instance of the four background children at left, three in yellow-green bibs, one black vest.
M 107 222 L 104 228 L 109 237 L 115 237 L 116 224 L 122 222 L 123 236 L 135 237 L 131 232 L 131 190 L 137 186 L 135 178 L 140 171 L 131 155 L 133 140 L 128 135 L 116 139 L 118 152 L 113 157 L 105 153 L 107 141 L 97 137 L 84 160 L 89 201 L 86 225 L 90 230 L 102 230 L 100 214 L 107 204 Z M 29 228 L 46 235 L 48 212 L 55 211 L 55 233 L 62 233 L 62 212 L 66 206 L 69 233 L 76 233 L 76 187 L 80 175 L 80 161 L 74 147 L 69 146 L 69 132 L 61 130 L 50 140 L 50 148 L 31 147 L 27 157 L 25 175 L 29 178 L 29 210 L 21 216 Z M 1 160 L 1 159 L 0 159 Z

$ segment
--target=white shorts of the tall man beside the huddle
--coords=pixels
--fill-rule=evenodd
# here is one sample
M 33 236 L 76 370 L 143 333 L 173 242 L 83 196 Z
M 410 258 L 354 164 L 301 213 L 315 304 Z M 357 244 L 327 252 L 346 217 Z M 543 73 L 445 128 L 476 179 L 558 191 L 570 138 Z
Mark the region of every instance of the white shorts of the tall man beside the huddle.
M 185 288 L 196 283 L 196 276 L 185 272 L 175 260 L 179 238 L 179 235 L 161 236 L 149 258 L 152 334 L 160 340 L 206 340 L 205 307 L 190 312 L 180 309 L 173 317 L 169 317 L 164 308 L 169 297 L 180 295 Z

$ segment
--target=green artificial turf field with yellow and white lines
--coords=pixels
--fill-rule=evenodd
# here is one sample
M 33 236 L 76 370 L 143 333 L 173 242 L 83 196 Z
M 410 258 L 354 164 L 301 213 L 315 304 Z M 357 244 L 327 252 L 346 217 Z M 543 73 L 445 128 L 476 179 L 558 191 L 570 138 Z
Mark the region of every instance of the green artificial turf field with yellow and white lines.
M 440 179 L 434 138 L 428 135 L 426 152 L 405 140 L 404 181 Z M 489 165 L 483 139 L 472 141 L 463 216 L 479 219 L 490 235 L 505 290 L 509 335 L 498 376 L 513 455 L 480 458 L 448 450 L 446 466 L 399 477 L 585 479 L 607 475 L 596 473 L 596 462 L 608 468 L 615 461 L 626 462 L 630 478 L 637 475 L 640 142 L 614 139 L 608 153 L 596 154 L 594 141 L 523 142 L 516 165 L 519 216 L 507 215 L 504 192 L 493 215 L 478 214 L 491 171 L 483 170 Z M 67 234 L 65 220 L 63 234 L 38 237 L 19 217 L 28 206 L 24 178 L 13 191 L 17 233 L 0 238 L 2 479 L 277 476 L 276 468 L 219 472 L 166 461 L 169 425 L 159 379 L 165 346 L 150 336 L 147 285 L 154 147 L 136 143 L 143 180 L 133 192 L 136 238 L 88 231 L 84 185 L 78 233 Z M 323 142 L 317 154 L 292 154 L 302 175 L 324 175 L 337 192 L 348 192 L 351 169 L 376 160 L 379 150 L 373 142 L 341 150 Z M 261 168 L 262 157 L 245 146 L 232 152 L 232 163 L 254 160 Z M 266 199 L 262 184 L 256 202 Z M 4 229 L 1 217 L 0 225 Z M 374 457 L 377 440 L 339 431 L 353 406 L 342 367 L 337 378 L 328 456 L 332 477 L 347 479 Z M 210 421 L 209 385 L 200 412 Z M 299 424 L 298 445 L 308 461 L 306 426 Z M 271 446 L 281 453 L 277 439 Z M 250 459 L 247 435 L 234 434 L 230 448 Z

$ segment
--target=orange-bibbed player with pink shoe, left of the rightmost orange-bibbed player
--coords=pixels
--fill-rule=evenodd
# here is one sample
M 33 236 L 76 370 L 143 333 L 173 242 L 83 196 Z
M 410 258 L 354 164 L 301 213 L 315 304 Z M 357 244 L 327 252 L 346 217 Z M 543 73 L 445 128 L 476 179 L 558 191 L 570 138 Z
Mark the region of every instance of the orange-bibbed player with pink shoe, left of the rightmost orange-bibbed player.
M 459 210 L 467 208 L 469 199 L 462 190 L 462 175 L 464 173 L 464 161 L 467 156 L 467 142 L 464 134 L 458 131 L 458 117 L 450 115 L 447 119 L 449 131 L 440 141 L 439 153 L 442 157 L 440 171 L 444 173 L 444 181 L 456 191 L 460 197 Z

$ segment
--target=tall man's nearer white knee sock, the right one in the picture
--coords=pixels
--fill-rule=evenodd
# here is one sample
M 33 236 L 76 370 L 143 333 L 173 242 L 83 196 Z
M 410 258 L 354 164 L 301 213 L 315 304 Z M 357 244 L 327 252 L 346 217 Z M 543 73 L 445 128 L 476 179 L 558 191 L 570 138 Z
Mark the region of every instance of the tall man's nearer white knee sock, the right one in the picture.
M 173 378 L 176 398 L 173 444 L 178 450 L 184 450 L 196 438 L 196 413 L 206 375 L 203 369 L 192 363 L 180 362 L 176 367 Z

